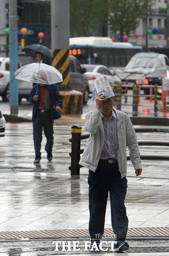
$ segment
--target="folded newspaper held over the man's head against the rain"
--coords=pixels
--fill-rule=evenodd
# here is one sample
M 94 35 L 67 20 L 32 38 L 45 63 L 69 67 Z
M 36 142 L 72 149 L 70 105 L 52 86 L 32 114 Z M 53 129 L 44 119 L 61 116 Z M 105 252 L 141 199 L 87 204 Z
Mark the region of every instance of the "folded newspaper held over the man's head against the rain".
M 106 76 L 101 76 L 94 80 L 94 88 L 91 96 L 91 102 L 95 101 L 98 94 L 101 93 L 103 93 L 103 95 L 106 96 L 105 99 L 115 96 L 112 87 L 108 81 L 108 78 Z

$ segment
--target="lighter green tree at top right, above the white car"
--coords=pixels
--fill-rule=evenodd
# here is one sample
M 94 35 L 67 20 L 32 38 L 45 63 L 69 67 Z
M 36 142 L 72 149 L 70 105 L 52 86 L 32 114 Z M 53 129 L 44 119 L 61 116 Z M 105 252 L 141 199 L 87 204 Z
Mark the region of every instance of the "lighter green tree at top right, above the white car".
M 130 35 L 146 15 L 146 4 L 150 8 L 155 0 L 110 0 L 109 24 L 112 31 L 120 31 L 121 38 L 124 32 Z

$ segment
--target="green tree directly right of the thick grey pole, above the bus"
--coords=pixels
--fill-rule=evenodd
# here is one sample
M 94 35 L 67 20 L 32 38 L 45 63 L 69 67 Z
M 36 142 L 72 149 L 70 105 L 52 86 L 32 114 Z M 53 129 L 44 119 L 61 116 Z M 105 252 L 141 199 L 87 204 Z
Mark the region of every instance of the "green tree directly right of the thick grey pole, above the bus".
M 108 0 L 70 0 L 71 37 L 92 36 L 91 29 L 107 27 Z

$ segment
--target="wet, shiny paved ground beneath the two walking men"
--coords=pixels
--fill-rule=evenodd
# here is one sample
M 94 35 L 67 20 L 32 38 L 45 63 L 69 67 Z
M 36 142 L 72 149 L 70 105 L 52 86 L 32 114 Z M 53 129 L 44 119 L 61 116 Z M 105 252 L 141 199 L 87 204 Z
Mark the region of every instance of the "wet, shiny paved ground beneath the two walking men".
M 24 113 L 31 115 L 29 107 Z M 71 176 L 68 170 L 71 126 L 81 124 L 82 133 L 86 134 L 84 120 L 77 116 L 66 118 L 67 124 L 60 120 L 54 123 L 51 162 L 47 160 L 43 136 L 40 165 L 33 164 L 35 155 L 32 123 L 6 124 L 6 136 L 0 138 L 0 255 L 73 254 L 73 251 L 60 251 L 61 248 L 58 252 L 54 251 L 52 241 L 55 238 L 63 240 L 65 232 L 71 239 L 72 234 L 76 234 L 75 241 L 82 238 L 81 249 L 77 253 L 89 253 L 84 251 L 82 245 L 84 237 L 89 238 L 88 170 L 81 168 L 80 176 Z M 137 133 L 137 136 L 142 141 L 168 141 L 167 133 Z M 81 141 L 81 148 L 84 148 L 86 141 Z M 140 146 L 140 152 L 141 155 L 168 155 L 169 148 Z M 136 177 L 131 162 L 128 161 L 127 164 L 128 239 L 131 236 L 138 239 L 142 236 L 168 239 L 168 161 L 142 160 L 142 165 L 142 175 Z M 107 204 L 105 231 L 112 234 L 110 200 Z M 24 241 L 37 237 L 52 237 L 53 240 Z M 169 252 L 168 240 L 138 240 L 129 243 L 131 247 L 126 255 L 144 253 L 150 256 L 147 253 L 158 255 L 159 252 L 166 256 L 164 253 Z M 110 251 L 105 253 L 107 255 Z

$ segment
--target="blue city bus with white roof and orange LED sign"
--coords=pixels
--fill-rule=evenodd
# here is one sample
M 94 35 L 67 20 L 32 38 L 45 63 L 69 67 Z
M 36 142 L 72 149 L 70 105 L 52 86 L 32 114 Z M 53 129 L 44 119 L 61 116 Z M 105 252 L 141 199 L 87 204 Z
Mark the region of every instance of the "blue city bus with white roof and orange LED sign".
M 113 42 L 110 37 L 69 38 L 69 54 L 77 57 L 81 64 L 102 64 L 110 69 L 124 69 L 141 46 L 128 42 Z

